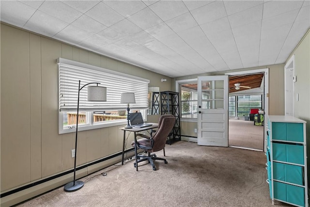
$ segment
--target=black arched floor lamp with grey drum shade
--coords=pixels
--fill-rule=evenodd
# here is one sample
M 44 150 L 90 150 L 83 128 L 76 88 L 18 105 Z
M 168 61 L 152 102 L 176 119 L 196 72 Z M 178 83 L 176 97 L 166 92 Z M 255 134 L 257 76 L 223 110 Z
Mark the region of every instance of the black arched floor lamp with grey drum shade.
M 80 88 L 81 81 L 78 80 L 78 107 L 79 107 L 79 92 L 85 86 L 89 84 L 97 84 L 97 86 L 88 86 L 87 87 L 87 101 L 107 101 L 107 88 L 98 86 L 98 82 L 91 82 L 83 85 Z M 80 180 L 76 180 L 76 169 L 77 169 L 77 143 L 78 143 L 78 109 L 77 109 L 77 127 L 76 127 L 76 150 L 74 156 L 74 173 L 73 173 L 73 181 L 65 184 L 64 191 L 72 192 L 78 191 L 80 188 L 84 186 L 84 182 Z

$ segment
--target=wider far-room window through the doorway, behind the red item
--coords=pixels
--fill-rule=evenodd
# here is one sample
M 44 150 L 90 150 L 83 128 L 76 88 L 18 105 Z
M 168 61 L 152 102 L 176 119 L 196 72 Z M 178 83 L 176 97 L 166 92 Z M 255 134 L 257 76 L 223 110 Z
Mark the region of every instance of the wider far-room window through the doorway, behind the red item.
M 248 116 L 253 108 L 262 110 L 262 95 L 241 95 L 237 99 L 238 116 Z

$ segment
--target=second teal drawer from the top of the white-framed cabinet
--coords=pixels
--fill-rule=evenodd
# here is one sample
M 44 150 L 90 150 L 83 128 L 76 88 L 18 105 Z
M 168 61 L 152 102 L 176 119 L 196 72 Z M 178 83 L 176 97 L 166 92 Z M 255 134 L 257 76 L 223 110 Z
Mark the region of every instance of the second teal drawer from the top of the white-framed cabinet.
M 304 164 L 304 146 L 298 144 L 272 143 L 273 160 Z

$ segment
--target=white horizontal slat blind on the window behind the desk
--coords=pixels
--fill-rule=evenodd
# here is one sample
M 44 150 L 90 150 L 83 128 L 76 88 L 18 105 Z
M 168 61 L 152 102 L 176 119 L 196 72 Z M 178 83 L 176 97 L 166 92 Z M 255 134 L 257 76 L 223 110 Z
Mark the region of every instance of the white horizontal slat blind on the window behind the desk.
M 75 61 L 58 59 L 59 65 L 59 111 L 77 111 L 78 80 L 80 88 L 90 82 L 99 82 L 99 86 L 107 87 L 107 101 L 87 101 L 87 86 L 80 91 L 79 111 L 124 110 L 121 94 L 135 93 L 136 103 L 131 109 L 148 108 L 149 80 L 122 74 L 105 68 L 82 64 Z M 90 84 L 88 86 L 96 84 Z

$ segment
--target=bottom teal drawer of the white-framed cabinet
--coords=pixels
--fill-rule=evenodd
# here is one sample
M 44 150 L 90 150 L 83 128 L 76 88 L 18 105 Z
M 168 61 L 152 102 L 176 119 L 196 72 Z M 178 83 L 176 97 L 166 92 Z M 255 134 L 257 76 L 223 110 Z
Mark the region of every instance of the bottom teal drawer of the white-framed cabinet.
M 305 189 L 299 186 L 273 182 L 274 198 L 299 206 L 305 206 Z

